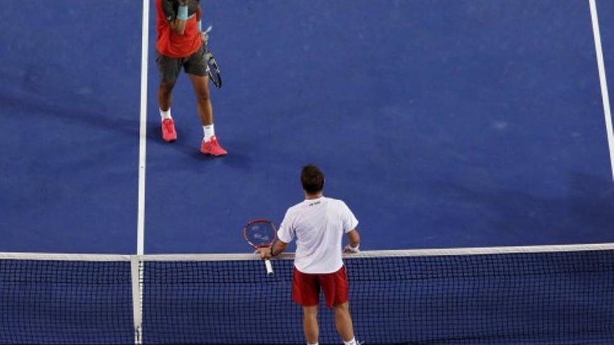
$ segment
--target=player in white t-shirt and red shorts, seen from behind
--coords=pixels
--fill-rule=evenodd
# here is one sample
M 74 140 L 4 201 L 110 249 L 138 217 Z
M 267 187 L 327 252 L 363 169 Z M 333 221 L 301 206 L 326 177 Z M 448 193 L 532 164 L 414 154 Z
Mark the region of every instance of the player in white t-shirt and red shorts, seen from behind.
M 305 200 L 287 210 L 277 233 L 278 241 L 270 248 L 262 248 L 260 256 L 269 259 L 280 254 L 296 237 L 292 298 L 303 306 L 303 329 L 307 344 L 317 345 L 320 333 L 317 305 L 321 287 L 327 307 L 334 308 L 337 331 L 343 342 L 356 345 L 341 243 L 345 233 L 350 243 L 344 251 L 359 251 L 358 220 L 343 201 L 322 195 L 324 174 L 315 165 L 303 168 L 301 184 Z

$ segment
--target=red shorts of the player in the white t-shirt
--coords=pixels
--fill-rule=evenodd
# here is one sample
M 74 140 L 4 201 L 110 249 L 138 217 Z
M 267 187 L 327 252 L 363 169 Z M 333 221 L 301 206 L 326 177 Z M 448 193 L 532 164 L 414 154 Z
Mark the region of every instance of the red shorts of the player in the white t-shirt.
M 335 273 L 309 274 L 294 268 L 292 277 L 292 299 L 304 307 L 320 303 L 320 288 L 324 291 L 327 307 L 347 302 L 348 284 L 345 266 Z

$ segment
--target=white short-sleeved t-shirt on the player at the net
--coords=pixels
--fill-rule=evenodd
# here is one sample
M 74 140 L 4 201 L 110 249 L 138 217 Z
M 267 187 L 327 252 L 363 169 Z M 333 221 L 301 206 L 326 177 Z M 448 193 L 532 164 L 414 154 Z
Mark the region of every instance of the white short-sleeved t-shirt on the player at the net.
M 285 243 L 297 238 L 294 266 L 302 273 L 334 273 L 343 266 L 343 234 L 358 220 L 345 202 L 327 197 L 305 200 L 288 208 L 277 237 Z

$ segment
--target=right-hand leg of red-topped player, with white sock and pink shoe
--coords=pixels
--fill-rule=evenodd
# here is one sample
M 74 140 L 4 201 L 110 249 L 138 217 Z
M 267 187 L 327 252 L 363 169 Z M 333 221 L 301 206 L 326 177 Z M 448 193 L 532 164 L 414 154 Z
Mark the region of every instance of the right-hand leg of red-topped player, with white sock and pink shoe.
M 190 82 L 192 82 L 194 88 L 196 107 L 204 133 L 200 152 L 205 155 L 226 155 L 227 152 L 220 146 L 214 129 L 214 109 L 209 94 L 209 77 L 191 74 L 188 74 L 188 77 L 190 77 Z

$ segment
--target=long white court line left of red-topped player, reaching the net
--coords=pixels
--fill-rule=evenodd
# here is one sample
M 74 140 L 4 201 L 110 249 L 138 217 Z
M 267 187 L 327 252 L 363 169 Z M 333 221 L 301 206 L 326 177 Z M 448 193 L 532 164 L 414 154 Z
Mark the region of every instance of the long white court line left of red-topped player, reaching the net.
M 147 160 L 147 60 L 149 59 L 149 0 L 143 0 L 141 35 L 141 109 L 139 131 L 139 201 L 137 210 L 137 255 L 144 254 L 145 163 Z

